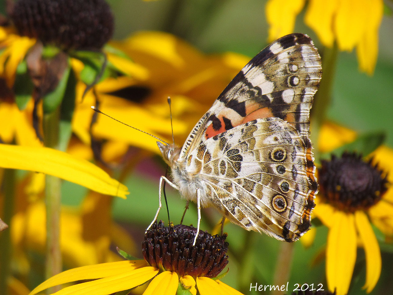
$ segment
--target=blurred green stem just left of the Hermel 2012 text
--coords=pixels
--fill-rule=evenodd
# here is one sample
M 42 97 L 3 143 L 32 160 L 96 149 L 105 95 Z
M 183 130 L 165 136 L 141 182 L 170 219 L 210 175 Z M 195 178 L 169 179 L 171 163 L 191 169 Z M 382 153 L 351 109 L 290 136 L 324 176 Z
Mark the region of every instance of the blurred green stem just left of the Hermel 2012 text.
M 244 238 L 244 245 L 242 247 L 241 255 L 239 255 L 239 290 L 243 294 L 250 293 L 250 282 L 253 281 L 254 273 L 254 250 L 255 250 L 255 236 L 254 232 L 246 232 Z

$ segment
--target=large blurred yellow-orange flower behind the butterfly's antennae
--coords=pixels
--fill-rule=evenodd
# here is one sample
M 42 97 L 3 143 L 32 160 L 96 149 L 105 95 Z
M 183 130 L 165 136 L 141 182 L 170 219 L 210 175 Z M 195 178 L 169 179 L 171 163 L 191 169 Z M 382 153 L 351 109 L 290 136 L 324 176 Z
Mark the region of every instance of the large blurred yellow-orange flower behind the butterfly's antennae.
M 183 143 L 222 89 L 249 58 L 227 53 L 206 56 L 185 41 L 163 32 L 140 32 L 112 46 L 125 52 L 147 71 L 145 76 L 108 78 L 86 94 L 76 106 L 73 130 L 88 141 L 93 111 L 98 108 L 136 128 L 172 141 L 167 98 L 172 101 L 175 141 Z M 81 93 L 82 89 L 78 90 Z M 156 139 L 131 130 L 102 115 L 92 128 L 97 138 L 125 142 L 159 153 Z

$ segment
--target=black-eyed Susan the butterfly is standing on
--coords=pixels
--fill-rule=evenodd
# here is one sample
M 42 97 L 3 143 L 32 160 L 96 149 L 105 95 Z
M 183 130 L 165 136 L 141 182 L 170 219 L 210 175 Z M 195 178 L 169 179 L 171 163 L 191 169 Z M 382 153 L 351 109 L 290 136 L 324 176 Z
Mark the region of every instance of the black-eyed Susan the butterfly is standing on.
M 148 294 L 233 294 L 241 293 L 222 283 L 217 276 L 228 264 L 226 236 L 200 232 L 193 246 L 196 228 L 153 224 L 142 243 L 144 260 L 127 260 L 78 267 L 46 280 L 30 295 L 66 282 L 92 280 L 66 287 L 54 294 L 112 294 L 147 284 Z M 127 257 L 127 255 L 125 255 Z

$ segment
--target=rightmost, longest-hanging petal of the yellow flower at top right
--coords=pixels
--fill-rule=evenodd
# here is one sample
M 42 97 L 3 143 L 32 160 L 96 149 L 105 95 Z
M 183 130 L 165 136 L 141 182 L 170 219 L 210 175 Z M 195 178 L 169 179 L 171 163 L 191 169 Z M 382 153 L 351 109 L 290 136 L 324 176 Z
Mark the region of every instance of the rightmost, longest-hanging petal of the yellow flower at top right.
M 378 31 L 384 13 L 382 0 L 366 1 L 367 26 L 356 48 L 359 68 L 367 74 L 373 74 L 378 56 Z

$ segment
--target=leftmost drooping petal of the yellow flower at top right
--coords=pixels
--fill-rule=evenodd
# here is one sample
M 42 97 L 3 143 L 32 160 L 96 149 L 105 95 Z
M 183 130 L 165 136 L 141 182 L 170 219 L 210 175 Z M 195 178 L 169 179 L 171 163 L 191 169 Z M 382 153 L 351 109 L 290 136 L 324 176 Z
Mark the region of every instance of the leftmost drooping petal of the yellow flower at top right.
M 266 3 L 269 42 L 293 33 L 296 17 L 303 8 L 304 3 L 304 0 L 269 0 Z

